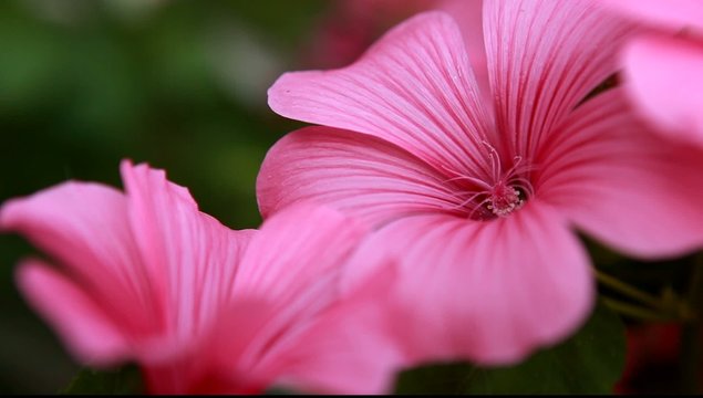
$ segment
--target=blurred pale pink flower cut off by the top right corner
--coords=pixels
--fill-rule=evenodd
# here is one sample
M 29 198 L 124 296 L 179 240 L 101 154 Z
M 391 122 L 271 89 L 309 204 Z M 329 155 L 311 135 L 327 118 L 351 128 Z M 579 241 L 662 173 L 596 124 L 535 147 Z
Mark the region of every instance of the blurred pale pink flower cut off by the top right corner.
M 607 3 L 657 28 L 623 54 L 624 86 L 641 115 L 662 133 L 703 146 L 703 2 Z

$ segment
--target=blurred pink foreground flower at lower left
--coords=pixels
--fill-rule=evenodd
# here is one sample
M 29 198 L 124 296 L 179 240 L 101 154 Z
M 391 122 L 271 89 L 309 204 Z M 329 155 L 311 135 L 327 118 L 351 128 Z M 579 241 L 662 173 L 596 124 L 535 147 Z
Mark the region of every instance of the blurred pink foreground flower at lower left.
M 76 358 L 134 360 L 157 394 L 387 388 L 400 357 L 374 332 L 387 277 L 340 300 L 363 228 L 301 205 L 232 231 L 164 171 L 124 161 L 122 176 L 126 193 L 66 182 L 0 212 L 60 265 L 25 260 L 18 282 Z

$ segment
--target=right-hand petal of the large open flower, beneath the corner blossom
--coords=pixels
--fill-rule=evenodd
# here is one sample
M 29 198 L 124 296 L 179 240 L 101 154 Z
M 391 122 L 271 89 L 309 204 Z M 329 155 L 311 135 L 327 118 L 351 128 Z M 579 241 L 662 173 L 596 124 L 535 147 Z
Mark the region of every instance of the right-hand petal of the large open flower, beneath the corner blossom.
M 577 227 L 631 255 L 703 244 L 703 156 L 648 132 L 620 90 L 585 104 L 545 147 L 537 195 Z

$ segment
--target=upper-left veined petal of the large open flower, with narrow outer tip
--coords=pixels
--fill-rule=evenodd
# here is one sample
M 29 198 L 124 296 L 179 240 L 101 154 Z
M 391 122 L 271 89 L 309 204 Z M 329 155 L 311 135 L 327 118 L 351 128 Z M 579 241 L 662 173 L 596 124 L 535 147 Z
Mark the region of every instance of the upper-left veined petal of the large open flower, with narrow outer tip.
M 277 113 L 389 140 L 441 169 L 483 167 L 472 148 L 490 132 L 462 35 L 427 12 L 391 30 L 349 67 L 282 75 Z

